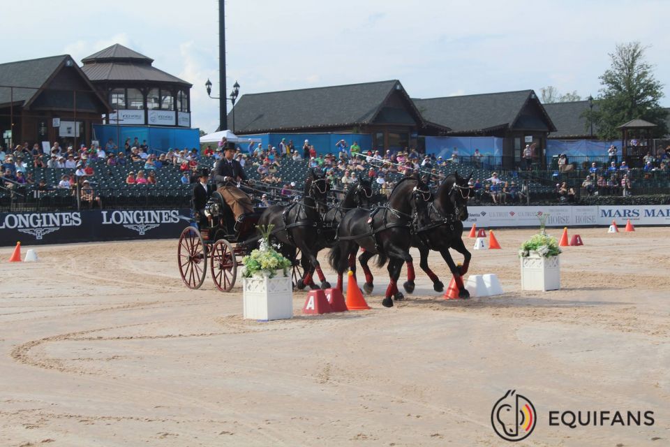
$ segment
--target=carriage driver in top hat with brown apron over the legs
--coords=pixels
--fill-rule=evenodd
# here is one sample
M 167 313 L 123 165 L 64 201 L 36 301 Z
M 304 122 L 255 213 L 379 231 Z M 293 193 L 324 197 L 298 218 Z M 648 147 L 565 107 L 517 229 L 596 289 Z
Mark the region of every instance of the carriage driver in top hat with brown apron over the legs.
M 246 174 L 239 161 L 234 159 L 234 155 L 235 145 L 228 142 L 223 149 L 223 158 L 214 166 L 212 178 L 216 182 L 216 191 L 228 203 L 237 221 L 244 214 L 253 212 L 253 205 L 251 199 L 237 187 L 237 182 L 246 181 Z

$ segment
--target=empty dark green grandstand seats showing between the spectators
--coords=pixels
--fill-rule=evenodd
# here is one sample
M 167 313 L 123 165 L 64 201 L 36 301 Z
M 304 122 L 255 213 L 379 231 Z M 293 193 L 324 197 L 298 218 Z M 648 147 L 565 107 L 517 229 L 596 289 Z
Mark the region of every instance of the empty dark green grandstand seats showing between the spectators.
M 152 151 L 156 152 L 156 151 Z M 43 156 L 44 163 L 47 162 L 47 156 Z M 25 157 L 30 159 L 29 157 Z M 276 189 L 281 189 L 285 184 L 295 183 L 292 189 L 300 193 L 302 184 L 309 169 L 309 161 L 292 161 L 285 157 L 278 159 L 280 166 L 276 168 L 274 176 L 281 178 L 281 184 L 276 184 Z M 212 168 L 215 159 L 213 157 L 203 157 L 198 161 L 198 166 Z M 373 168 L 375 172 L 385 161 L 380 159 L 367 158 L 364 161 L 364 170 L 355 171 L 359 175 L 367 175 L 368 169 Z M 156 184 L 126 184 L 126 177 L 131 171 L 137 173 L 144 169 L 144 161 L 132 162 L 128 160 L 125 166 L 107 166 L 107 161 L 102 159 L 86 159 L 84 163 L 94 170 L 94 174 L 87 177 L 96 194 L 102 198 L 105 209 L 121 208 L 155 208 L 155 207 L 190 207 L 191 184 L 182 184 L 182 171 L 178 165 L 166 163 L 161 168 L 156 169 Z M 597 167 L 601 170 L 606 169 L 606 161 L 597 161 Z M 526 185 L 530 198 L 523 196 L 526 200 L 532 200 L 533 203 L 558 201 L 557 184 L 566 182 L 569 188 L 576 191 L 575 200 L 579 202 L 582 196 L 586 195 L 586 190 L 581 187 L 583 180 L 588 174 L 586 163 L 573 163 L 574 170 L 570 172 L 559 172 L 558 170 L 521 170 L 521 169 L 500 169 L 495 170 L 502 183 L 514 182 L 519 190 L 522 185 Z M 26 175 L 30 175 L 34 184 L 13 184 L 12 187 L 3 187 L 0 189 L 0 210 L 1 211 L 34 211 L 34 210 L 73 210 L 77 209 L 77 200 L 75 192 L 71 189 L 60 189 L 57 187 L 59 180 L 63 175 L 74 175 L 74 169 L 67 168 L 36 168 L 34 163 L 29 163 L 26 167 Z M 272 191 L 272 188 L 260 182 L 260 174 L 257 172 L 258 159 L 256 161 L 248 156 L 244 168 L 248 177 L 256 180 L 257 188 L 260 191 Z M 494 171 L 493 168 L 476 167 L 470 157 L 462 157 L 458 163 L 449 163 L 446 166 L 435 166 L 432 173 L 433 181 L 437 175 L 447 175 L 454 170 L 459 170 L 462 175 L 472 173 L 472 179 L 482 180 L 482 189 L 477 191 L 474 203 L 477 205 L 493 204 L 490 194 L 486 193 L 485 179 L 489 179 Z M 423 170 L 423 173 L 431 175 L 431 170 Z M 647 194 L 665 194 L 670 188 L 670 176 L 666 170 L 653 170 L 645 172 L 639 168 L 631 169 L 627 172 L 632 183 L 632 192 L 635 195 Z M 342 171 L 336 170 L 335 177 L 341 178 Z M 620 173 L 616 173 L 617 176 Z M 397 182 L 403 177 L 402 173 L 389 172 L 385 175 L 386 182 Z M 620 177 L 616 178 L 618 182 Z M 38 191 L 40 180 L 44 180 L 46 191 Z M 600 189 L 600 195 L 616 194 L 620 195 L 616 182 L 614 186 Z M 377 199 L 383 200 L 381 186 L 377 182 L 373 183 L 373 189 L 378 194 Z M 8 184 L 12 184 L 8 182 Z M 334 189 L 343 189 L 338 182 L 332 182 Z M 44 189 L 44 188 L 43 188 Z M 511 203 L 511 202 L 507 202 Z M 516 203 L 519 203 L 518 201 Z

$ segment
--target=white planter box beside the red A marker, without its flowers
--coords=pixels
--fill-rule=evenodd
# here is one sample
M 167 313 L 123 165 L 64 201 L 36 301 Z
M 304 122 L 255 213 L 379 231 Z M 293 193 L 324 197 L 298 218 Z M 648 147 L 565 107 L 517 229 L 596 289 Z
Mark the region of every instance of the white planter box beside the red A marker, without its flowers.
M 291 277 L 285 277 L 281 270 L 274 278 L 244 278 L 242 294 L 244 318 L 269 321 L 293 317 Z

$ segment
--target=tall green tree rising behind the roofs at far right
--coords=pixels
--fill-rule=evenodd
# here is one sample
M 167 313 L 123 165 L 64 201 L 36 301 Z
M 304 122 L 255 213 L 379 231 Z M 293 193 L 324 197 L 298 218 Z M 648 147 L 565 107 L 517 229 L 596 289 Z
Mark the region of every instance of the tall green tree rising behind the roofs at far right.
M 617 127 L 636 118 L 657 125 L 652 136 L 668 132 L 667 112 L 659 105 L 663 85 L 655 80 L 653 66 L 645 60 L 646 48 L 639 42 L 619 44 L 609 54 L 611 66 L 599 78 L 602 88 L 594 101 L 597 107 L 582 115 L 586 117 L 585 129 L 593 122 L 602 140 L 620 138 Z

